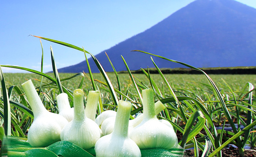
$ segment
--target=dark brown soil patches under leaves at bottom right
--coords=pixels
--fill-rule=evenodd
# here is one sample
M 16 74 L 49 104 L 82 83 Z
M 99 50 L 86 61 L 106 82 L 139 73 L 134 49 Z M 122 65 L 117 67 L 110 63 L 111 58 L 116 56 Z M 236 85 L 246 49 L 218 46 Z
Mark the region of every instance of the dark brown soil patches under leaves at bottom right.
M 199 151 L 199 157 L 202 155 L 202 151 Z M 229 148 L 224 148 L 222 150 L 223 157 L 240 157 L 238 154 L 238 149 L 230 146 Z M 195 157 L 194 150 L 185 150 L 183 157 Z M 256 157 L 256 149 L 245 150 L 245 157 Z

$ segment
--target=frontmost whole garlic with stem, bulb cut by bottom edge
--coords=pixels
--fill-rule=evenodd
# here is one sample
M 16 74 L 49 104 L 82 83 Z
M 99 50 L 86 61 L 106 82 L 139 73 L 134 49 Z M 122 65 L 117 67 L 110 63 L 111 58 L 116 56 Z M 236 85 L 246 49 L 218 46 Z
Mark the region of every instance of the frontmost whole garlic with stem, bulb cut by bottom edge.
M 113 133 L 96 142 L 96 157 L 141 157 L 139 147 L 128 137 L 131 108 L 130 102 L 119 100 Z

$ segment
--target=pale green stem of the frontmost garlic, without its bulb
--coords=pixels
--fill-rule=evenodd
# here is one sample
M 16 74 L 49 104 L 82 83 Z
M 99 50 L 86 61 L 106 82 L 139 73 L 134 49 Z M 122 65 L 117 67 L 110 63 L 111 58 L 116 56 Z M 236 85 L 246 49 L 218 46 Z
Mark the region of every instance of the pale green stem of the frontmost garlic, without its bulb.
M 117 115 L 115 117 L 114 135 L 128 137 L 129 117 L 132 104 L 123 100 L 119 100 Z

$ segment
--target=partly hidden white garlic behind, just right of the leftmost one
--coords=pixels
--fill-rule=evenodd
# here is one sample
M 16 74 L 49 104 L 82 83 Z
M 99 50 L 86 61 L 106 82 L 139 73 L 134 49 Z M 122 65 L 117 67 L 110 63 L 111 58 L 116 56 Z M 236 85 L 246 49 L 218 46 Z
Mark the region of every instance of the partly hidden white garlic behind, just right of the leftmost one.
M 74 108 L 70 107 L 67 93 L 60 93 L 57 97 L 59 115 L 65 117 L 70 122 L 74 118 Z

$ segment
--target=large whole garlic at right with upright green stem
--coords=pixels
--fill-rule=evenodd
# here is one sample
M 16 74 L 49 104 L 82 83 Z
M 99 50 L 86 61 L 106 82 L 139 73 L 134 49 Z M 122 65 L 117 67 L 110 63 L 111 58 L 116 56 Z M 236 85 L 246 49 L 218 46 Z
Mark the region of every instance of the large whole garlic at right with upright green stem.
M 178 142 L 178 138 L 173 129 L 156 118 L 153 90 L 144 89 L 142 96 L 143 121 L 130 132 L 129 137 L 140 149 L 172 148 Z

